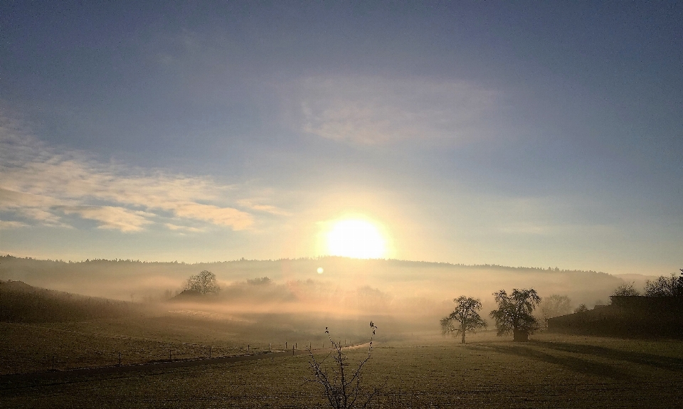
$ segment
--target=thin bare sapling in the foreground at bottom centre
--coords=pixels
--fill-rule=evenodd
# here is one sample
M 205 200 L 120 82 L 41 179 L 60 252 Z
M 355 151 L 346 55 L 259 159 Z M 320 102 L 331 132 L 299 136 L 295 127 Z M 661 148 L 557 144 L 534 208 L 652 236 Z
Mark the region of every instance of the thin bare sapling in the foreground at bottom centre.
M 318 383 L 324 389 L 324 396 L 327 402 L 334 409 L 367 408 L 370 400 L 378 393 L 378 388 L 373 388 L 371 392 L 364 392 L 361 389 L 361 370 L 370 360 L 372 352 L 372 339 L 374 338 L 377 327 L 370 322 L 372 335 L 368 346 L 368 356 L 359 362 L 355 370 L 349 368 L 349 361 L 346 354 L 342 352 L 342 343 L 332 341 L 329 329 L 325 328 L 325 334 L 332 344 L 332 351 L 325 356 L 322 361 L 317 361 L 310 347 L 307 349 L 310 355 L 309 364 L 313 370 L 314 379 L 312 382 Z M 332 356 L 331 371 L 324 368 L 324 363 Z

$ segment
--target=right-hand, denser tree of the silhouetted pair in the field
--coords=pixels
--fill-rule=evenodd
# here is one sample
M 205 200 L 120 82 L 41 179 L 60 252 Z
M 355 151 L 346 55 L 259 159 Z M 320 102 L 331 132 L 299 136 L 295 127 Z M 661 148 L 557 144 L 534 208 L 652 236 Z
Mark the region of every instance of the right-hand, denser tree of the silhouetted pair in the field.
M 498 336 L 512 332 L 514 341 L 527 341 L 529 333 L 538 329 L 539 323 L 534 317 L 534 308 L 541 302 L 541 297 L 533 288 L 517 290 L 508 295 L 505 290 L 493 293 L 498 309 L 491 312 L 496 320 Z

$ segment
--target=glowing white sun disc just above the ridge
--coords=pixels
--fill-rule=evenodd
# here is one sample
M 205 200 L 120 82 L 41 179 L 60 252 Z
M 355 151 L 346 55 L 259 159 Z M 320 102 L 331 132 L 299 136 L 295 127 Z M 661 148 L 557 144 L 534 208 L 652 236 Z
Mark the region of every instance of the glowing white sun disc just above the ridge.
M 330 255 L 354 258 L 381 258 L 386 254 L 386 240 L 373 223 L 347 219 L 338 221 L 327 233 Z

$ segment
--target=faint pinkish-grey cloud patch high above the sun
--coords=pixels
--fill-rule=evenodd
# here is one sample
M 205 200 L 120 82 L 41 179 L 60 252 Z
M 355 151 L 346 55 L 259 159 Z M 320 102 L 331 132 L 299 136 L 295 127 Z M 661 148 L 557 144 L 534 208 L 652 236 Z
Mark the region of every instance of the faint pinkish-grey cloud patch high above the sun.
M 308 78 L 297 92 L 303 131 L 354 144 L 471 138 L 497 97 L 470 83 L 378 77 Z

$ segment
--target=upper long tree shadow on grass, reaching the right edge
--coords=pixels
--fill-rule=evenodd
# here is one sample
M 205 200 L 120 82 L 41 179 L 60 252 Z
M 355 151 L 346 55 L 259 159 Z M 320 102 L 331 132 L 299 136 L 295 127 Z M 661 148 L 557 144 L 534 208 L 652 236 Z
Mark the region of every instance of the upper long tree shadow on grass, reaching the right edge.
M 649 365 L 654 366 L 655 368 L 683 372 L 683 358 L 672 358 L 669 356 L 647 354 L 645 352 L 623 351 L 620 349 L 607 348 L 605 346 L 570 344 L 568 342 L 531 341 L 531 343 L 556 351 L 594 355 L 635 363 L 637 365 Z

